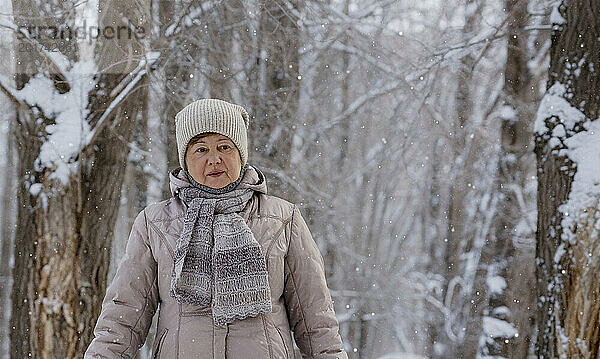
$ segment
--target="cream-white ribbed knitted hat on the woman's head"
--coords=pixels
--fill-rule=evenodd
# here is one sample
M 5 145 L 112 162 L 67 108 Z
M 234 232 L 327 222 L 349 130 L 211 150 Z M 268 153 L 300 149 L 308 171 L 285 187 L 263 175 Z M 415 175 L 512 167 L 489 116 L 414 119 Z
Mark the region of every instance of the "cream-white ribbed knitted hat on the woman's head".
M 239 105 L 218 99 L 197 100 L 185 106 L 175 115 L 175 137 L 179 164 L 185 168 L 185 151 L 192 137 L 215 132 L 233 141 L 242 160 L 248 160 L 248 113 Z

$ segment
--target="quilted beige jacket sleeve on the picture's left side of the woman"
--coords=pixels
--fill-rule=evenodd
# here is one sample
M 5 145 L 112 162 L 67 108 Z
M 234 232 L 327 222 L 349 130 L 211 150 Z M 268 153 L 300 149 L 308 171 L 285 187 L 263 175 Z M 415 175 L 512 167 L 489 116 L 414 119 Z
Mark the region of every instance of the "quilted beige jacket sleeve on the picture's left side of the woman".
M 125 256 L 106 291 L 94 339 L 84 359 L 133 358 L 144 344 L 158 304 L 157 263 L 148 242 L 146 213 L 136 217 Z

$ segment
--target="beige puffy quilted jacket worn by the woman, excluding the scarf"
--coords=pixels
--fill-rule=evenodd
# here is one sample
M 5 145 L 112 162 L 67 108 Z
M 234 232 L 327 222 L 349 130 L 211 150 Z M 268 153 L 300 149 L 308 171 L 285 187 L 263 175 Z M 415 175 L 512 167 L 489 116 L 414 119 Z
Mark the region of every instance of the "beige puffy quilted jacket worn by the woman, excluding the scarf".
M 305 221 L 295 205 L 266 194 L 260 171 L 248 172 L 240 187 L 256 192 L 240 214 L 265 253 L 272 313 L 216 327 L 210 307 L 178 304 L 169 296 L 173 251 L 185 214 L 175 194 L 190 186 L 179 167 L 170 173 L 173 197 L 147 206 L 133 223 L 85 359 L 133 358 L 157 309 L 152 358 L 294 358 L 291 331 L 303 358 L 347 358 L 323 259 Z

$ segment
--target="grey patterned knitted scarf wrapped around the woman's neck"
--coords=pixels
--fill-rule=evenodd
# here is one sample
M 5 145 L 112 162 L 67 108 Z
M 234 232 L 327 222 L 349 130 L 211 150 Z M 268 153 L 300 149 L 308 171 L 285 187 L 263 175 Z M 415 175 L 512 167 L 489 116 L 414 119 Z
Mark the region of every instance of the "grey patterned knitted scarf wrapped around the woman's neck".
M 187 211 L 175 249 L 170 295 L 179 303 L 210 305 L 215 325 L 223 326 L 270 313 L 271 292 L 260 244 L 238 213 L 254 191 L 211 190 L 200 185 L 178 192 Z

